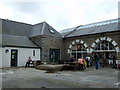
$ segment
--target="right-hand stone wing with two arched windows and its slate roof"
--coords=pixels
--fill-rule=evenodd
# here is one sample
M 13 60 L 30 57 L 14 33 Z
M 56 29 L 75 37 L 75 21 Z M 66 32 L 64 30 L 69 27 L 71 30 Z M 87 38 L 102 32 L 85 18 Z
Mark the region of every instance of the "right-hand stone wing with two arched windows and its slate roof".
M 105 63 L 109 54 L 120 59 L 120 28 L 118 19 L 107 20 L 61 31 L 63 36 L 64 57 L 66 60 L 74 55 L 78 57 L 93 56 L 97 52 Z

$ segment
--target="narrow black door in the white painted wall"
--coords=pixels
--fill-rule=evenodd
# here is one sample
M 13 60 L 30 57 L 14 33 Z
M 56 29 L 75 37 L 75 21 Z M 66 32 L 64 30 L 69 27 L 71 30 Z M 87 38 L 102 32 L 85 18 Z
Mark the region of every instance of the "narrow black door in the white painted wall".
M 12 49 L 11 50 L 11 67 L 17 66 L 17 56 L 18 56 L 18 50 Z

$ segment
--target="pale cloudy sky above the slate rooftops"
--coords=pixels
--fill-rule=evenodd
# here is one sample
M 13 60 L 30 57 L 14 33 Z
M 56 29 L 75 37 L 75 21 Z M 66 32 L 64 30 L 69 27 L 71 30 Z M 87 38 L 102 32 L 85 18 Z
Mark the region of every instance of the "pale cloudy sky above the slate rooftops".
M 119 0 L 2 0 L 0 18 L 36 24 L 48 22 L 60 31 L 118 18 Z

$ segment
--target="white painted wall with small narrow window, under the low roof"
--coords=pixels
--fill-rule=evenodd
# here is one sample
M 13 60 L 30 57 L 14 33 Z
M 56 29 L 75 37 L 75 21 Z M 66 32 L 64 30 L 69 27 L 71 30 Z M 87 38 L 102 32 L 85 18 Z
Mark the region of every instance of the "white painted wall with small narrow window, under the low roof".
M 5 52 L 6 49 L 9 50 L 8 53 Z M 33 60 L 40 60 L 40 49 L 2 47 L 2 67 L 10 67 L 11 49 L 17 49 L 18 50 L 18 63 L 17 63 L 17 66 L 25 66 L 25 63 L 28 60 L 29 56 Z M 35 56 L 33 56 L 33 50 L 35 50 Z

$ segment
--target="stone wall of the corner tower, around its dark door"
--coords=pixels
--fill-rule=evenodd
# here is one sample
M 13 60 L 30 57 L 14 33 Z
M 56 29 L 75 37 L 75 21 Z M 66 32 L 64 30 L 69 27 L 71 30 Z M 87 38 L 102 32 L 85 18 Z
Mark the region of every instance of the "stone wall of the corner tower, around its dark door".
M 63 39 L 50 36 L 36 36 L 31 38 L 38 46 L 41 47 L 41 60 L 49 62 L 49 50 L 60 49 L 62 53 Z

